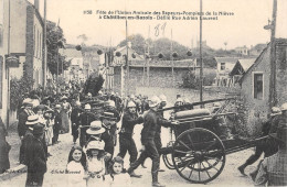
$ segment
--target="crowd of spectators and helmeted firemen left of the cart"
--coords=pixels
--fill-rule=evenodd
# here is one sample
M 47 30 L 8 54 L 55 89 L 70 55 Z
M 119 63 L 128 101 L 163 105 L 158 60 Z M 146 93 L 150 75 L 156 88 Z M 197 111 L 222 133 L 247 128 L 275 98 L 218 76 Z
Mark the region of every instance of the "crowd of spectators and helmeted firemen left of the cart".
M 162 186 L 157 177 L 160 127 L 177 122 L 164 120 L 162 112 L 156 112 L 167 102 L 166 96 L 160 98 L 130 95 L 123 99 L 117 92 L 102 91 L 95 97 L 88 92 L 85 98 L 71 97 L 67 91 L 43 98 L 28 95 L 18 110 L 19 162 L 28 166 L 26 186 L 42 186 L 47 157 L 53 156 L 51 146 L 61 142 L 61 134 L 70 132 L 74 146 L 68 155 L 66 173 L 78 174 L 68 178 L 70 186 L 95 186 L 104 182 L 109 186 L 119 183 L 130 186 L 130 177 L 141 177 L 135 169 L 139 164 L 144 165 L 147 157 L 152 160 L 152 186 Z M 144 123 L 142 147 L 137 160 L 138 148 L 132 134 L 134 127 L 140 123 Z M 117 142 L 119 153 L 114 155 Z M 124 169 L 127 152 L 130 154 L 130 168 Z

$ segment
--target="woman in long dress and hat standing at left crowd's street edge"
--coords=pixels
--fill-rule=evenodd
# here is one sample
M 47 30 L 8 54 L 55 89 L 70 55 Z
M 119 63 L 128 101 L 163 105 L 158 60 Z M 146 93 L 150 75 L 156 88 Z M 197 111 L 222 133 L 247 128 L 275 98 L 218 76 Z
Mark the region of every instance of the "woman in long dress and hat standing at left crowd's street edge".
M 67 97 L 62 97 L 62 110 L 61 110 L 61 117 L 62 117 L 62 133 L 68 133 L 70 132 L 70 112 L 72 110 L 71 105 L 67 102 Z

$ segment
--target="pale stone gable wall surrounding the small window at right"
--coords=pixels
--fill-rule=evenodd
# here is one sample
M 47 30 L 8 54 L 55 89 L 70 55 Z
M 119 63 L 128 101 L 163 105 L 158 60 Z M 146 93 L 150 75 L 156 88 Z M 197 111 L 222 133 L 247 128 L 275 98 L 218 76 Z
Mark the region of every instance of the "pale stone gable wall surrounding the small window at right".
M 268 97 L 269 97 L 269 75 L 270 75 L 270 64 L 269 64 L 270 47 L 263 52 L 263 54 L 257 58 L 261 61 L 251 67 L 247 74 L 244 76 L 242 82 L 241 95 L 243 97 L 244 108 L 245 108 L 245 119 L 244 122 L 248 128 L 249 134 L 256 134 L 261 131 L 262 121 L 267 119 L 268 113 Z M 263 99 L 254 99 L 253 95 L 253 74 L 259 72 L 264 74 L 263 82 Z

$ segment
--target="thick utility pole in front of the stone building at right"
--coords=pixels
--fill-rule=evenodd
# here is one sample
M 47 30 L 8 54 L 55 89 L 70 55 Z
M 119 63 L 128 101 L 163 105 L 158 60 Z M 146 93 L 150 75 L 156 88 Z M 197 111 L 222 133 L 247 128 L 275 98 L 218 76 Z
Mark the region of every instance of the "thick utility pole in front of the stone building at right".
M 273 1 L 273 22 L 272 22 L 272 35 L 270 35 L 270 81 L 269 81 L 269 110 L 277 102 L 276 96 L 276 16 L 277 16 L 277 0 Z

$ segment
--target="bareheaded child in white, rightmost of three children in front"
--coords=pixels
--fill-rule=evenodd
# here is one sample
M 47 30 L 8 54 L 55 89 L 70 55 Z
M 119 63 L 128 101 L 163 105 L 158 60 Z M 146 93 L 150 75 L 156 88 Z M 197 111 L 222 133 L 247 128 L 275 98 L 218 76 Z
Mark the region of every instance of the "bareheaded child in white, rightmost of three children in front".
M 120 156 L 114 157 L 110 165 L 110 177 L 106 177 L 110 187 L 130 187 L 130 176 L 124 169 L 124 160 Z

